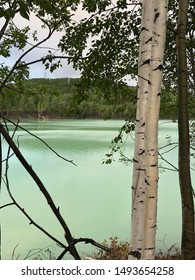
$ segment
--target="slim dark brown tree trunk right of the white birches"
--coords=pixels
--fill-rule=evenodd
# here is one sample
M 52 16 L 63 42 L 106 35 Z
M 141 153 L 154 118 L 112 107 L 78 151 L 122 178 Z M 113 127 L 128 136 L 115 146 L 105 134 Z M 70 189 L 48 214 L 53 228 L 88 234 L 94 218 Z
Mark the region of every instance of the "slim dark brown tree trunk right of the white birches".
M 190 174 L 190 139 L 188 117 L 188 74 L 186 57 L 186 26 L 188 0 L 179 0 L 177 26 L 178 56 L 178 131 L 179 131 L 179 183 L 182 201 L 183 259 L 195 258 L 194 202 Z

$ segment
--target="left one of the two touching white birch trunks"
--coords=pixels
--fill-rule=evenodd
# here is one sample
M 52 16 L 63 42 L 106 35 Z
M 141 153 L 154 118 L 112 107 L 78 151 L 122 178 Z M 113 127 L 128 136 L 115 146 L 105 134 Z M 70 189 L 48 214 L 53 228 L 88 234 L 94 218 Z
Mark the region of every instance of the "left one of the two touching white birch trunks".
M 147 3 L 146 3 L 147 2 Z M 132 182 L 132 218 L 129 259 L 139 259 L 145 221 L 145 123 L 153 30 L 154 0 L 144 1 L 138 65 L 138 96 Z

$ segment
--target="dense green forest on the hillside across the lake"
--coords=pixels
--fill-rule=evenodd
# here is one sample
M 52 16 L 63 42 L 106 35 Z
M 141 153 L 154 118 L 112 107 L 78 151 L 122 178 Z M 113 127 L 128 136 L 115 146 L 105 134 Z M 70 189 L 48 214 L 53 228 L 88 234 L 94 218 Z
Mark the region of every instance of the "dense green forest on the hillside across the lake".
M 132 119 L 137 88 L 119 84 L 109 92 L 97 86 L 86 89 L 80 79 L 29 79 L 10 84 L 0 96 L 0 111 L 14 118 Z M 190 116 L 195 115 L 194 98 Z M 161 118 L 177 118 L 177 94 L 162 90 Z

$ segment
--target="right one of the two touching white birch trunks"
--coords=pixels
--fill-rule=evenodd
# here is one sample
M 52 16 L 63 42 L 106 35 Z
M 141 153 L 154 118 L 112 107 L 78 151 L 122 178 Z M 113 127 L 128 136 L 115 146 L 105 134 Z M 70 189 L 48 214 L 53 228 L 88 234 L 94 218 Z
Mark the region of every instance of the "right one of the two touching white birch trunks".
M 146 209 L 144 229 L 144 251 L 142 259 L 154 259 L 157 224 L 158 189 L 158 120 L 163 59 L 166 38 L 168 0 L 154 1 L 154 25 L 150 63 L 149 95 L 146 110 Z

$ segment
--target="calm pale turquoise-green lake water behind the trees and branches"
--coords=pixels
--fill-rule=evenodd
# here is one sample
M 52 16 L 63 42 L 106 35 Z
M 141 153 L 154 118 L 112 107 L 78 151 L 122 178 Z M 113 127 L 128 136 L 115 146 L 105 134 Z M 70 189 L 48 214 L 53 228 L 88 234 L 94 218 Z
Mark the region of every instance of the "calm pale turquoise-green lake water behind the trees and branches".
M 132 165 L 117 160 L 102 164 L 110 152 L 110 141 L 117 136 L 123 121 L 52 120 L 23 121 L 20 125 L 41 137 L 60 155 L 77 166 L 63 161 L 43 143 L 19 130 L 20 150 L 47 187 L 74 237 L 89 237 L 103 242 L 110 236 L 129 241 L 131 216 Z M 17 137 L 15 137 L 17 139 Z M 161 121 L 159 146 L 177 141 L 177 124 Z M 4 153 L 6 145 L 4 144 Z M 126 143 L 125 154 L 132 158 L 133 140 Z M 177 165 L 177 149 L 165 153 Z M 161 169 L 162 170 L 162 169 Z M 194 175 L 194 174 L 193 174 Z M 64 241 L 63 231 L 49 209 L 38 187 L 15 157 L 9 162 L 10 188 L 20 205 L 42 227 Z M 2 186 L 1 205 L 10 202 Z M 16 209 L 3 208 L 2 259 L 25 258 L 29 250 L 52 246 L 58 256 L 61 249 L 39 232 Z M 177 172 L 161 171 L 159 180 L 157 248 L 178 243 L 181 239 L 181 203 Z M 79 252 L 95 251 L 91 245 L 79 245 Z M 34 251 L 33 251 L 34 252 Z M 68 256 L 66 256 L 68 258 Z

